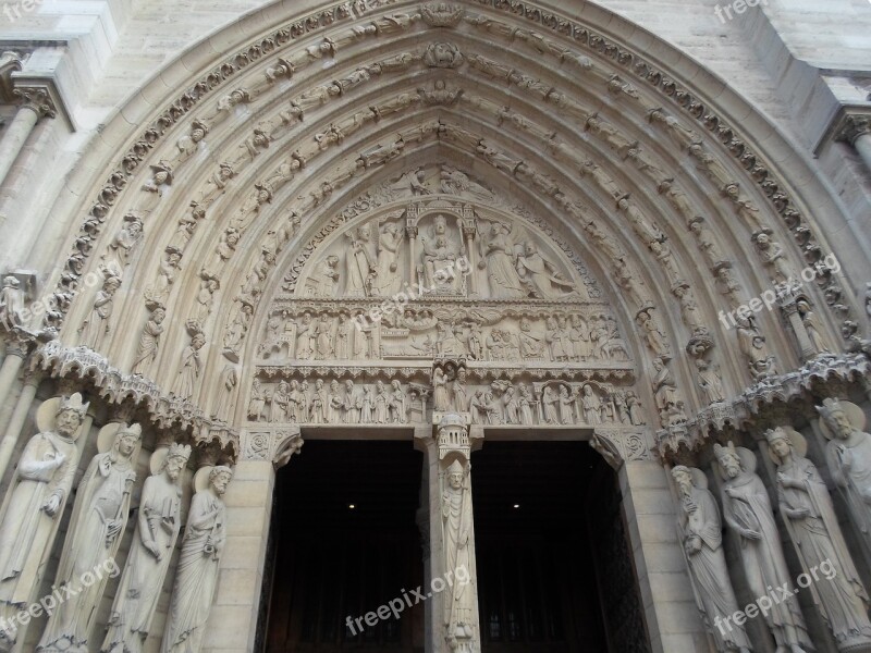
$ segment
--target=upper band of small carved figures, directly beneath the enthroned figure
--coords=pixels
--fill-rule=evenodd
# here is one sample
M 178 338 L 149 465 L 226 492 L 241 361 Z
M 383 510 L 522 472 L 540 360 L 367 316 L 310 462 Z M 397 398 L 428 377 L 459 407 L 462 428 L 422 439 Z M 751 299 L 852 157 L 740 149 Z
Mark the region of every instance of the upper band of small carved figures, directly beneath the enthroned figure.
M 438 311 L 437 311 L 438 312 Z M 470 360 L 588 362 L 629 360 L 616 321 L 604 315 L 555 315 L 541 320 L 502 319 L 484 330 L 474 318 L 442 319 L 431 310 L 367 318 L 338 311 L 309 311 L 283 320 L 273 316 L 259 347 L 270 356 L 286 347 L 297 360 L 368 360 L 373 358 L 432 358 L 465 356 Z

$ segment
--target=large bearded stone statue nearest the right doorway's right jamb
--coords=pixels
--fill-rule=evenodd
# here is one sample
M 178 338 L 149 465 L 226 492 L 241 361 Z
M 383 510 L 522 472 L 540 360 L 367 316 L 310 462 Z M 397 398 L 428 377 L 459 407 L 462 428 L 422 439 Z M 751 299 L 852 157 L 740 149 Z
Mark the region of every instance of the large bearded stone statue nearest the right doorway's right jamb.
M 723 555 L 723 526 L 708 479 L 700 469 L 677 465 L 672 469 L 680 498 L 677 528 L 689 567 L 696 605 L 704 615 L 708 631 L 720 653 L 749 653 L 750 641 L 743 625 L 726 621 L 738 612 L 738 602 Z M 729 626 L 724 628 L 722 623 Z

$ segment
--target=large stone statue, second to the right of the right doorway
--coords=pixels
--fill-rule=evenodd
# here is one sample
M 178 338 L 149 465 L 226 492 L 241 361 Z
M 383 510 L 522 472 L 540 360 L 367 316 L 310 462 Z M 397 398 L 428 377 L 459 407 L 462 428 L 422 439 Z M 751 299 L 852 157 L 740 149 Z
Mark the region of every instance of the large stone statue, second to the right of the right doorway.
M 769 587 L 789 587 L 792 575 L 783 556 L 768 490 L 756 475 L 756 456 L 731 442 L 728 446 L 714 444 L 714 454 L 723 478 L 723 517 L 740 541 L 750 594 L 765 596 Z M 813 650 L 795 595 L 782 599 L 762 617 L 777 643 L 776 653 Z

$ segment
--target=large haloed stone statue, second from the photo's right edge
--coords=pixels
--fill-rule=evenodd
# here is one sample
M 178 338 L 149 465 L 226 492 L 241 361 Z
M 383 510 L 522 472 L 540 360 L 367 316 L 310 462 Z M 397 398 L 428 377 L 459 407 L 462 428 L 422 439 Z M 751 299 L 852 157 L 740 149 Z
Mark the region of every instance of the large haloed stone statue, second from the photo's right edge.
M 806 572 L 831 569 L 823 582 L 811 583 L 814 603 L 842 651 L 871 646 L 868 592 L 852 564 L 837 523 L 832 498 L 820 472 L 805 457 L 807 442 L 784 427 L 765 432 L 769 454 L 777 466 L 777 498 L 786 530 Z M 831 578 L 830 578 L 831 576 Z

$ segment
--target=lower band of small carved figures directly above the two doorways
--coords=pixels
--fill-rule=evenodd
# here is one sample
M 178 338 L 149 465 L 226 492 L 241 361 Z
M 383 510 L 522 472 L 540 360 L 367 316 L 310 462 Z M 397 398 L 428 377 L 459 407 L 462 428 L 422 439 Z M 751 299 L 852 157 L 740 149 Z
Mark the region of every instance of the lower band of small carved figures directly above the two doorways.
M 314 387 L 312 387 L 314 385 Z M 511 383 L 475 386 L 466 371 L 437 369 L 432 387 L 393 380 L 355 384 L 347 379 L 279 381 L 265 386 L 255 378 L 248 402 L 254 421 L 312 424 L 389 424 L 422 422 L 427 397 L 442 412 L 468 412 L 476 424 L 567 426 L 645 423 L 641 401 L 633 390 L 603 391 L 590 383 Z

